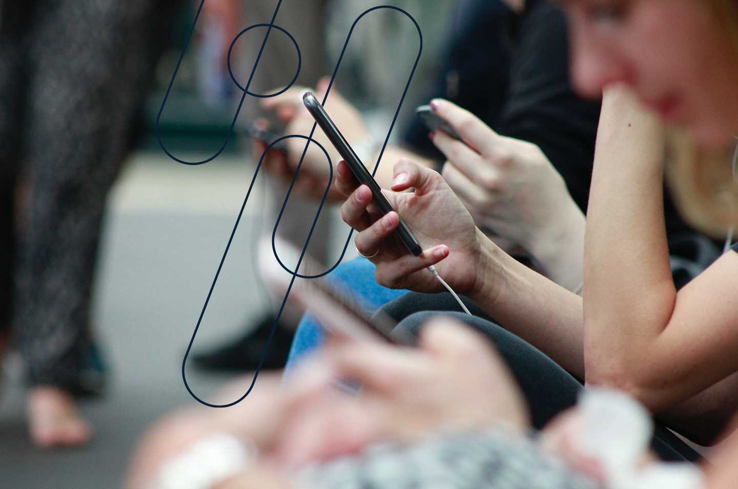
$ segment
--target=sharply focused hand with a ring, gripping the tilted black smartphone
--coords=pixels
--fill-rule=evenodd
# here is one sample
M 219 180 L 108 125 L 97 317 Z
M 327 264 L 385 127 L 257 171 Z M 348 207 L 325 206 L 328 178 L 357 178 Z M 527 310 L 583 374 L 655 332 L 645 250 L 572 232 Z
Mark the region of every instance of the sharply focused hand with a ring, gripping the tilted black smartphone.
M 359 186 L 345 162 L 338 165 L 335 183 L 348 196 L 341 217 L 359 231 L 356 249 L 372 256 L 376 280 L 393 289 L 439 292 L 443 286 L 424 270 L 438 264 L 436 270 L 456 292 L 472 295 L 480 290 L 484 281 L 477 273 L 483 236 L 461 201 L 430 168 L 400 160 L 393 172 L 393 191 L 383 192 L 396 212 L 384 217 L 373 204 L 368 186 Z M 415 192 L 404 192 L 410 188 Z M 398 213 L 424 248 L 421 256 L 411 255 L 393 232 L 399 225 Z

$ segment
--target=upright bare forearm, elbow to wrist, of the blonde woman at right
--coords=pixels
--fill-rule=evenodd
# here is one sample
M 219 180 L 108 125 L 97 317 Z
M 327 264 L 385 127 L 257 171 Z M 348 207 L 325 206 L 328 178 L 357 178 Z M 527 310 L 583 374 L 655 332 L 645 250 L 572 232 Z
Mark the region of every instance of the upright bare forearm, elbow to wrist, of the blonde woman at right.
M 606 94 L 584 244 L 588 382 L 633 391 L 632 367 L 647 358 L 672 315 L 663 141 L 661 124 L 630 95 Z

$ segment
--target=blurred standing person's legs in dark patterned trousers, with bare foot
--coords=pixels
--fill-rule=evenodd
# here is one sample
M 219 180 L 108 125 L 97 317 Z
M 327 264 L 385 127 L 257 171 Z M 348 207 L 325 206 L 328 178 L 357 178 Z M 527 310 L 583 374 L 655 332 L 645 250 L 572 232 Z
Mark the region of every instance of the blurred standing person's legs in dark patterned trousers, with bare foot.
M 0 1 L 0 355 L 21 354 L 32 442 L 80 445 L 106 372 L 90 300 L 108 189 L 176 1 Z

